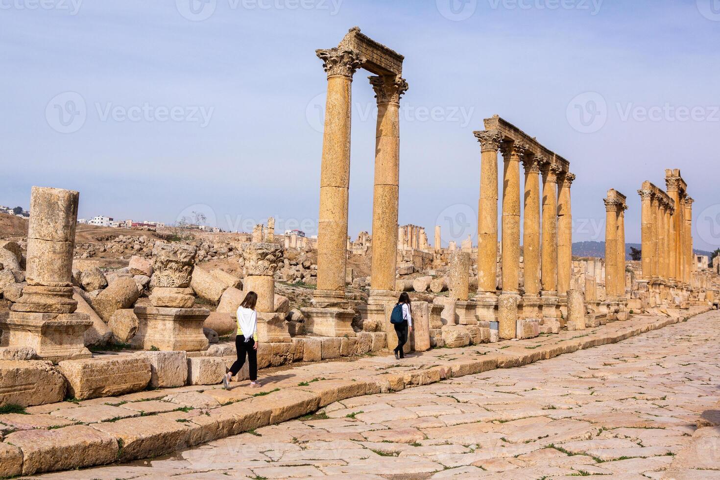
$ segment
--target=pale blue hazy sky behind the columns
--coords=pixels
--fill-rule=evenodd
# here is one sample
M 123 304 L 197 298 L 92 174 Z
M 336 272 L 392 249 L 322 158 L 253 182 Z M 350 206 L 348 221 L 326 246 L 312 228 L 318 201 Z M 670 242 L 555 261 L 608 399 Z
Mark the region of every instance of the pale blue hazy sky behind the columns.
M 192 17 L 189 0 L 44 1 L 52 8 L 0 0 L 0 204 L 27 207 L 42 185 L 81 191 L 81 217 L 174 222 L 202 209 L 223 228 L 315 222 L 326 83 L 315 49 L 359 25 L 405 55 L 400 224 L 427 227 L 431 241 L 446 217 L 474 224 L 472 131 L 500 114 L 572 163 L 575 241 L 603 240 L 602 199 L 615 188 L 629 197 L 627 240 L 639 242 L 636 190 L 681 168 L 696 247 L 719 246 L 718 0 L 193 0 L 200 15 L 215 8 L 202 21 L 181 14 Z M 368 75 L 353 87 L 353 237 L 372 225 Z M 78 95 L 84 123 L 63 127 L 55 105 L 72 109 Z M 597 131 L 579 132 L 575 104 L 595 111 L 598 99 L 606 120 L 585 117 Z M 147 115 L 132 108 L 143 105 Z M 158 121 L 173 107 L 176 120 Z

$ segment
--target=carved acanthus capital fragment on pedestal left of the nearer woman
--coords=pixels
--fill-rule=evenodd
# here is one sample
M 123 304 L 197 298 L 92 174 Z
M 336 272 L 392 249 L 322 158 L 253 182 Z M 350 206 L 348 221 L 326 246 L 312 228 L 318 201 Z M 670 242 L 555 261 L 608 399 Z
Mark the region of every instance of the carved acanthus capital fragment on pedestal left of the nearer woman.
M 151 287 L 184 289 L 190 286 L 197 248 L 182 243 L 156 242 L 153 246 Z

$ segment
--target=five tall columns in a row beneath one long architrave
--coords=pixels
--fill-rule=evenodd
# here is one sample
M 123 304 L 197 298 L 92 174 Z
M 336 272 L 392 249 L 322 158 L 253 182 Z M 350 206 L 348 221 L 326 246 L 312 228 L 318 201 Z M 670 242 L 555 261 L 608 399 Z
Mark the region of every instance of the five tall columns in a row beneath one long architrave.
M 572 214 L 570 186 L 575 175 L 562 171 L 544 155 L 532 153 L 521 142 L 500 132 L 476 132 L 481 145 L 480 203 L 478 206 L 478 296 L 496 292 L 496 245 L 498 243 L 498 150 L 503 154 L 502 291 L 519 292 L 521 185 L 524 178 L 523 255 L 525 292 L 523 312 L 527 318 L 544 297 L 549 307 L 566 296 L 572 272 Z M 540 186 L 542 175 L 542 194 Z M 529 316 L 528 316 L 529 315 Z

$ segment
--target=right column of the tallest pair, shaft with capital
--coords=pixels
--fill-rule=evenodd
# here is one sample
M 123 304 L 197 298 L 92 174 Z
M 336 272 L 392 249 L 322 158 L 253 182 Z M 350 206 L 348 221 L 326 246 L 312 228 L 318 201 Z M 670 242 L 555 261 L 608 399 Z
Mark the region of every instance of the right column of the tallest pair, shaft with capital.
M 372 76 L 377 99 L 375 186 L 372 204 L 372 291 L 395 291 L 397 200 L 400 188 L 400 97 L 408 82 L 395 76 Z M 417 232 L 413 238 L 413 247 Z

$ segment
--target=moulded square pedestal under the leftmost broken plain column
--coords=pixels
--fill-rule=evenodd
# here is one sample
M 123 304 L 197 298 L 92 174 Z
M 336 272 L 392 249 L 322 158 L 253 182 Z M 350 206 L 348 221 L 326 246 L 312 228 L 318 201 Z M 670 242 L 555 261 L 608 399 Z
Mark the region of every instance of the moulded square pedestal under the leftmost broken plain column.
M 85 348 L 85 330 L 92 320 L 84 313 L 37 313 L 12 311 L 0 323 L 4 347 L 30 347 L 37 358 L 58 363 L 91 358 Z

